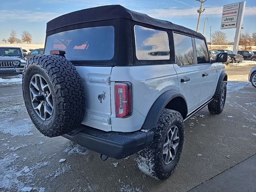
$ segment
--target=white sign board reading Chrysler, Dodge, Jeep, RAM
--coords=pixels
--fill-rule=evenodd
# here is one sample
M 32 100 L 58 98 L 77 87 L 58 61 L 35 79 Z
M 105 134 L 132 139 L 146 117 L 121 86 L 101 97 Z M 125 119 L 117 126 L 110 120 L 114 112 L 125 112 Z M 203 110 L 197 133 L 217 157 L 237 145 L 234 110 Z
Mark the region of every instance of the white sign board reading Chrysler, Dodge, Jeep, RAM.
M 222 9 L 222 18 L 220 29 L 236 28 L 240 3 L 224 5 Z

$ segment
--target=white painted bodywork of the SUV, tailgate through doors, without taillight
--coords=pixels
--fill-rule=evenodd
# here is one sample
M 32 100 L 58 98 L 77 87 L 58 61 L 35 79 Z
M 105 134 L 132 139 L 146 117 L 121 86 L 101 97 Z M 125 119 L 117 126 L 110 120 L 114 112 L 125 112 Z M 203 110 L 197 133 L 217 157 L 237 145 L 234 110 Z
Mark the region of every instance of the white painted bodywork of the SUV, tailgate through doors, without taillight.
M 188 114 L 212 98 L 223 64 L 201 64 L 180 67 L 177 64 L 147 66 L 76 66 L 86 94 L 86 113 L 82 124 L 104 131 L 140 130 L 156 99 L 168 90 L 183 94 Z M 203 73 L 208 76 L 202 77 Z M 190 81 L 180 82 L 189 77 Z M 132 84 L 132 115 L 116 118 L 114 83 Z M 100 103 L 98 95 L 105 92 Z

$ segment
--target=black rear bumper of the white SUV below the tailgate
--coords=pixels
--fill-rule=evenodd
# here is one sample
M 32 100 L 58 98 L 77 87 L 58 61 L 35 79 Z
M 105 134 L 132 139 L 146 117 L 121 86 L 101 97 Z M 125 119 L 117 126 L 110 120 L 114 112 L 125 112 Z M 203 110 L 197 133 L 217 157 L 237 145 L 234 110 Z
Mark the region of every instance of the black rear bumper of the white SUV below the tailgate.
M 154 132 L 105 132 L 81 125 L 72 132 L 63 135 L 85 148 L 109 156 L 122 159 L 146 148 L 153 140 Z

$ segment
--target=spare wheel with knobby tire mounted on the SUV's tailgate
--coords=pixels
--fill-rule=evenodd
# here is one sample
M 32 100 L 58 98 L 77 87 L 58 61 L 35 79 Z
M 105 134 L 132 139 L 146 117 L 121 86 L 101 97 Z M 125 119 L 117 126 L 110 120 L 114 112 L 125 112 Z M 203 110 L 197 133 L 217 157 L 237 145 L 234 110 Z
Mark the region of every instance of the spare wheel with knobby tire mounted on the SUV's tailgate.
M 45 136 L 56 137 L 81 124 L 85 112 L 82 79 L 75 66 L 58 55 L 27 60 L 22 90 L 28 114 Z

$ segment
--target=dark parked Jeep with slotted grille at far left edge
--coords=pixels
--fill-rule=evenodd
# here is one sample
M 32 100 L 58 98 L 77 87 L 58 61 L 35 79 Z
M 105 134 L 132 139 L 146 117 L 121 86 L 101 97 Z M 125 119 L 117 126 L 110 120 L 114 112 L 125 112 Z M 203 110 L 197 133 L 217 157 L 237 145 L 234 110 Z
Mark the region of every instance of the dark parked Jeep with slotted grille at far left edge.
M 0 46 L 0 76 L 14 76 L 23 72 L 26 61 L 20 47 Z

